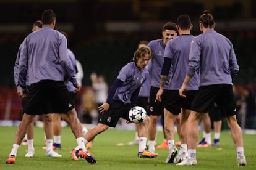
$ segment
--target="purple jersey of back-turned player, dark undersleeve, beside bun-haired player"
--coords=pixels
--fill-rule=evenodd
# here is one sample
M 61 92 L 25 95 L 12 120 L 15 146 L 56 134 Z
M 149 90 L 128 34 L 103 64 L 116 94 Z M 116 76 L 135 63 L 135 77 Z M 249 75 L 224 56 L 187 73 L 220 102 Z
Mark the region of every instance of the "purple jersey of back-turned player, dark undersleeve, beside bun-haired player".
M 179 90 L 182 86 L 187 73 L 187 65 L 189 64 L 190 44 L 194 36 L 190 34 L 182 34 L 177 38 L 167 42 L 164 57 L 171 59 L 172 77 L 169 84 L 169 90 Z M 197 90 L 199 87 L 198 71 L 190 79 L 187 90 Z

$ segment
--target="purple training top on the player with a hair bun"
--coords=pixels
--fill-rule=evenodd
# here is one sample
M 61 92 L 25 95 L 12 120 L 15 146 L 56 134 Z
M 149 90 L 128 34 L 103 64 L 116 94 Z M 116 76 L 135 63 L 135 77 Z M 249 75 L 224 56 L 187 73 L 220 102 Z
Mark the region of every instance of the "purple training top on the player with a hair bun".
M 199 68 L 200 67 L 200 68 Z M 239 71 L 231 41 L 214 30 L 195 37 L 191 43 L 187 75 L 200 69 L 200 86 L 231 84 Z

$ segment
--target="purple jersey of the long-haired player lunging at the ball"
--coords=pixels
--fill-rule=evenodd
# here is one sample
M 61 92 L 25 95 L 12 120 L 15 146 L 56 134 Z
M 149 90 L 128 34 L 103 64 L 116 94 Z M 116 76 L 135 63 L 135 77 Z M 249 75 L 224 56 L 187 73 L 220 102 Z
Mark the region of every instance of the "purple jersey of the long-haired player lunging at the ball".
M 131 103 L 132 94 L 137 88 L 141 87 L 145 80 L 148 78 L 148 70 L 144 68 L 139 70 L 135 62 L 127 63 L 119 71 L 117 79 L 120 79 L 123 83 L 117 87 L 113 100 L 119 100 L 122 103 Z

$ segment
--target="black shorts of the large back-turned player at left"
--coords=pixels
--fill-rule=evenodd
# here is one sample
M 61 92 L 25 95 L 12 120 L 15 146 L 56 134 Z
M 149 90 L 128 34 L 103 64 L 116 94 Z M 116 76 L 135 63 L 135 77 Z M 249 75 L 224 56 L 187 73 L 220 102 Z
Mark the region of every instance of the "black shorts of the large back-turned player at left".
M 24 112 L 28 115 L 66 113 L 74 108 L 74 100 L 62 81 L 44 80 L 31 84 Z

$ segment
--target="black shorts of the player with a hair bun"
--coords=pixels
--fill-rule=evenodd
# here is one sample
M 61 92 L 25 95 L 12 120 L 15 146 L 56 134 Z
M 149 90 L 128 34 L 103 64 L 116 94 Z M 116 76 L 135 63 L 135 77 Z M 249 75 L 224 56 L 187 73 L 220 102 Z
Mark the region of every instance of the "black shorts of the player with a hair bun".
M 236 103 L 231 84 L 214 84 L 201 86 L 191 105 L 191 110 L 207 113 L 213 103 L 220 108 L 223 116 L 236 115 Z

